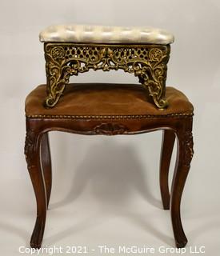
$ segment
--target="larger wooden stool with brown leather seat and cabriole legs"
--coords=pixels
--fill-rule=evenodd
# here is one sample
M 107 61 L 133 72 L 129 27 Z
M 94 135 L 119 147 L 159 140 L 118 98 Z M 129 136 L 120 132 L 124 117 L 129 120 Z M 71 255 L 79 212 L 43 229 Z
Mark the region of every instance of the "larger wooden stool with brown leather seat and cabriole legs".
M 54 70 L 54 73 L 56 71 Z M 30 246 L 39 248 L 50 201 L 51 163 L 48 132 L 74 134 L 140 134 L 163 130 L 160 187 L 165 210 L 170 209 L 177 247 L 186 246 L 180 202 L 193 157 L 193 106 L 180 91 L 166 88 L 166 110 L 158 110 L 141 85 L 74 84 L 54 108 L 45 108 L 46 85 L 38 86 L 26 98 L 26 162 L 37 200 L 37 218 Z M 174 140 L 178 155 L 171 192 L 168 173 Z

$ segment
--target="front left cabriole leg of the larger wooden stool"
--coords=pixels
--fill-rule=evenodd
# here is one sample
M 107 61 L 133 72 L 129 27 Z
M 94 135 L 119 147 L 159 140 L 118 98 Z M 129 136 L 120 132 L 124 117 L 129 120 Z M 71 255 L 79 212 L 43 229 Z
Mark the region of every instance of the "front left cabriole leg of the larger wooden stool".
M 38 131 L 28 127 L 26 130 L 25 154 L 30 179 L 34 187 L 37 201 L 37 218 L 34 231 L 30 238 L 30 246 L 40 248 L 46 222 L 46 190 L 40 162 L 40 141 L 42 136 Z

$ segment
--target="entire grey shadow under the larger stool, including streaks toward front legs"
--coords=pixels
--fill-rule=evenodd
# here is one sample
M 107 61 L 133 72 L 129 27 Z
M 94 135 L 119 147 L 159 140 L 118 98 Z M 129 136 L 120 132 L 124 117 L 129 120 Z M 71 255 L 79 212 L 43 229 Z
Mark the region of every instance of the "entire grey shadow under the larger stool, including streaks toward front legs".
M 150 181 L 147 179 L 146 167 L 138 161 L 131 145 L 122 145 L 110 140 L 97 142 L 87 151 L 83 162 L 74 172 L 71 190 L 62 201 L 51 204 L 52 209 L 74 202 L 86 186 L 90 186 L 91 193 L 105 211 L 104 214 L 110 212 L 120 214 L 155 238 L 174 246 L 174 238 L 162 234 L 157 229 L 156 223 L 151 223 L 152 217 L 148 218 L 147 212 L 143 217 L 138 212 L 135 213 L 135 209 L 130 209 L 130 197 L 135 191 L 151 205 L 162 209 L 162 202 L 154 198 L 148 189 Z M 159 186 L 159 182 L 155 186 Z M 88 216 L 66 230 L 46 238 L 46 244 L 53 245 L 62 238 L 97 225 L 98 214 L 102 213 L 95 213 L 93 217 Z

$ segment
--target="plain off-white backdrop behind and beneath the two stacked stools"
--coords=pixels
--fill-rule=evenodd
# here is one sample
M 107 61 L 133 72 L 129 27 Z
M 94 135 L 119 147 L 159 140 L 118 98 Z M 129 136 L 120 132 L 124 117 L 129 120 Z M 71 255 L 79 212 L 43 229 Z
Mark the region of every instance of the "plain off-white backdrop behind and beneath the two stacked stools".
M 23 155 L 26 94 L 46 82 L 38 33 L 58 23 L 158 26 L 175 35 L 167 85 L 194 103 L 194 159 L 182 198 L 190 246 L 220 249 L 220 2 L 218 0 L 0 0 L 0 252 L 28 246 L 35 199 Z M 121 71 L 72 82 L 137 82 Z M 158 186 L 161 133 L 50 134 L 54 184 L 43 246 L 174 246 Z M 117 227 L 117 228 L 116 228 Z M 92 253 L 91 253 L 92 255 Z

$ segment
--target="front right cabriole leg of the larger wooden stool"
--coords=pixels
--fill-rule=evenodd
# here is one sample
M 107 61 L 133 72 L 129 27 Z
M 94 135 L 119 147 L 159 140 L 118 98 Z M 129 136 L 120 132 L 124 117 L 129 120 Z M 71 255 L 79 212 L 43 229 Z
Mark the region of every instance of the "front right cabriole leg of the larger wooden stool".
M 178 156 L 171 189 L 170 208 L 176 246 L 182 248 L 186 246 L 187 238 L 182 228 L 180 203 L 194 150 L 191 128 L 190 130 L 179 130 L 177 136 Z

